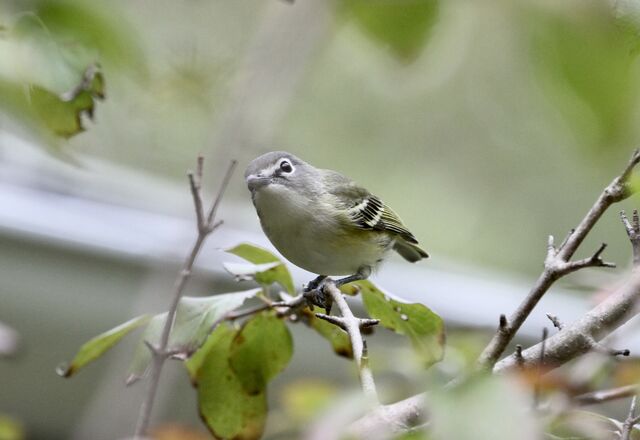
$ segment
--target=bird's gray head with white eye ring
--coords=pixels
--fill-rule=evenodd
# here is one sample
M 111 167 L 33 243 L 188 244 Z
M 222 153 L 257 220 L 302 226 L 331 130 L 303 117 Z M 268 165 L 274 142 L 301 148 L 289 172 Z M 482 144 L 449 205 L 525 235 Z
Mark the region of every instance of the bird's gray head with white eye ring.
M 317 181 L 317 170 L 286 151 L 272 151 L 254 159 L 244 173 L 251 192 L 270 185 L 309 189 Z

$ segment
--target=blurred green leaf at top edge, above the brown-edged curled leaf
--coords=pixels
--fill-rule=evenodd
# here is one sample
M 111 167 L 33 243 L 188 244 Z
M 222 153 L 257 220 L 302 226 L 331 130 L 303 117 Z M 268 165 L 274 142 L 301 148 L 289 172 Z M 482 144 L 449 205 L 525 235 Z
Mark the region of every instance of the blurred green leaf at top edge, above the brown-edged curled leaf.
M 33 27 L 44 27 L 57 43 L 65 46 L 68 58 L 144 72 L 146 61 L 135 28 L 118 13 L 114 5 L 83 0 L 36 0 L 37 20 Z M 27 29 L 28 31 L 28 29 Z

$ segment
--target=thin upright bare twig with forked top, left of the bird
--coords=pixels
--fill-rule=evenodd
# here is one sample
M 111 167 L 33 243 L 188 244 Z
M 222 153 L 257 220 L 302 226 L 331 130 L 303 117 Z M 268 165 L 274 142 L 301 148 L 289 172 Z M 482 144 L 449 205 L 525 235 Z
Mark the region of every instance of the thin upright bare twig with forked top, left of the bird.
M 227 168 L 227 172 L 222 180 L 222 184 L 220 189 L 218 190 L 218 194 L 216 195 L 215 201 L 209 210 L 209 214 L 204 217 L 204 212 L 202 208 L 202 194 L 201 194 L 201 184 L 202 184 L 202 168 L 203 168 L 203 159 L 201 156 L 198 157 L 196 174 L 189 173 L 189 185 L 191 188 L 191 194 L 193 195 L 194 200 L 194 208 L 196 211 L 196 219 L 198 226 L 198 236 L 191 247 L 191 252 L 184 262 L 178 277 L 173 286 L 173 295 L 171 299 L 171 305 L 169 306 L 169 311 L 167 313 L 167 319 L 164 322 L 164 327 L 162 328 L 162 334 L 160 336 L 160 343 L 157 347 L 152 347 L 149 344 L 147 345 L 152 353 L 152 363 L 151 363 L 151 374 L 149 378 L 149 385 L 147 389 L 147 395 L 145 396 L 144 401 L 142 402 L 142 406 L 140 407 L 140 415 L 138 416 L 138 423 L 135 431 L 135 438 L 143 438 L 147 432 L 147 428 L 149 426 L 149 417 L 151 416 L 151 410 L 153 408 L 153 402 L 156 396 L 156 392 L 158 390 L 158 384 L 160 382 L 160 373 L 162 372 L 162 367 L 164 365 L 164 361 L 171 357 L 173 353 L 167 351 L 167 346 L 169 344 L 169 335 L 171 333 L 171 327 L 173 326 L 173 321 L 176 316 L 176 311 L 178 309 L 178 303 L 180 302 L 180 298 L 182 297 L 182 293 L 184 291 L 184 287 L 191 276 L 191 271 L 193 269 L 193 263 L 195 262 L 200 250 L 202 249 L 202 245 L 206 241 L 209 234 L 211 234 L 221 223 L 214 223 L 215 215 L 217 213 L 218 206 L 220 204 L 220 200 L 224 194 L 224 191 L 231 180 L 231 175 L 236 166 L 236 161 L 231 161 L 229 167 Z

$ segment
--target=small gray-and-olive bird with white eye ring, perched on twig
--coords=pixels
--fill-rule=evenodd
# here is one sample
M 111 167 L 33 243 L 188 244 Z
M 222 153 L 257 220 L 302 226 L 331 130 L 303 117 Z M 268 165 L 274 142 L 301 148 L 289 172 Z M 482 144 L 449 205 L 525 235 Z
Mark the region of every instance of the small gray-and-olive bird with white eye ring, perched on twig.
M 315 168 L 285 151 L 254 159 L 245 172 L 265 234 L 290 262 L 318 274 L 371 275 L 390 249 L 412 263 L 428 254 L 391 208 L 336 171 Z

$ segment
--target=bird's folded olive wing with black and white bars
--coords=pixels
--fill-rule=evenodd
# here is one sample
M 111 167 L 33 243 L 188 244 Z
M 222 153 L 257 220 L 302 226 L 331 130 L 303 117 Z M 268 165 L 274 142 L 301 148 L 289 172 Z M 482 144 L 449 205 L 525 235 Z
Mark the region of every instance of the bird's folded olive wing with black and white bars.
M 392 232 L 409 243 L 418 243 L 398 214 L 379 197 L 334 171 L 326 170 L 323 178 L 325 188 L 336 198 L 351 225 L 359 229 Z

